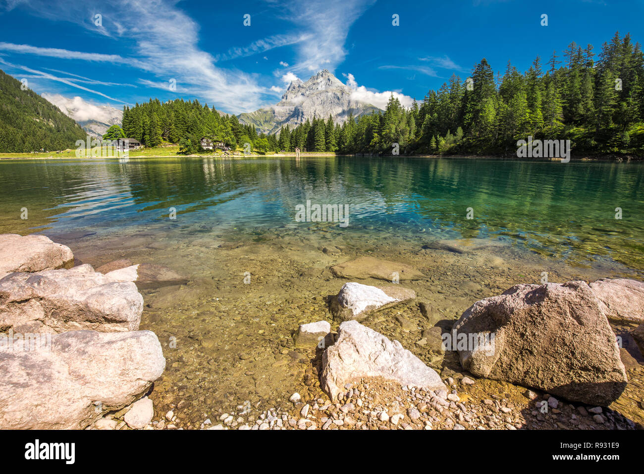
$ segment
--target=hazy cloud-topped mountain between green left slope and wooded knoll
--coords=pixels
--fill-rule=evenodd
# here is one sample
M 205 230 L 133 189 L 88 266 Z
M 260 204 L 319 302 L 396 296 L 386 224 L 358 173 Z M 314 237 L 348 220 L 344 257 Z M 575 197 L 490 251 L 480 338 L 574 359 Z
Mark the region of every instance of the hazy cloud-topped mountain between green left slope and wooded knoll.
M 92 137 L 102 137 L 109 127 L 123 121 L 123 111 L 109 105 L 94 105 L 81 97 L 70 99 L 60 94 L 43 94 L 43 97 L 77 121 Z

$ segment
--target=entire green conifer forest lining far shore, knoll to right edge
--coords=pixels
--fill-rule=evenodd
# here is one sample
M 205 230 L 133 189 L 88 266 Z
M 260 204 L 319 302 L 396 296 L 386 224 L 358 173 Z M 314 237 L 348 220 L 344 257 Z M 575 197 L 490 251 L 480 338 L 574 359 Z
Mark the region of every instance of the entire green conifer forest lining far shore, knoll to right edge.
M 178 143 L 185 153 L 211 137 L 229 146 L 250 143 L 258 152 L 390 154 L 398 143 L 401 154 L 514 155 L 516 141 L 531 135 L 569 139 L 573 153 L 643 155 L 644 57 L 630 34 L 616 33 L 597 54 L 590 44 L 571 43 L 536 57 L 524 73 L 508 62 L 495 74 L 482 59 L 470 77 L 453 75 L 420 103 L 406 108 L 391 97 L 384 112 L 343 124 L 320 117 L 265 135 L 198 101 L 151 100 L 124 108 L 123 130 L 147 146 Z

